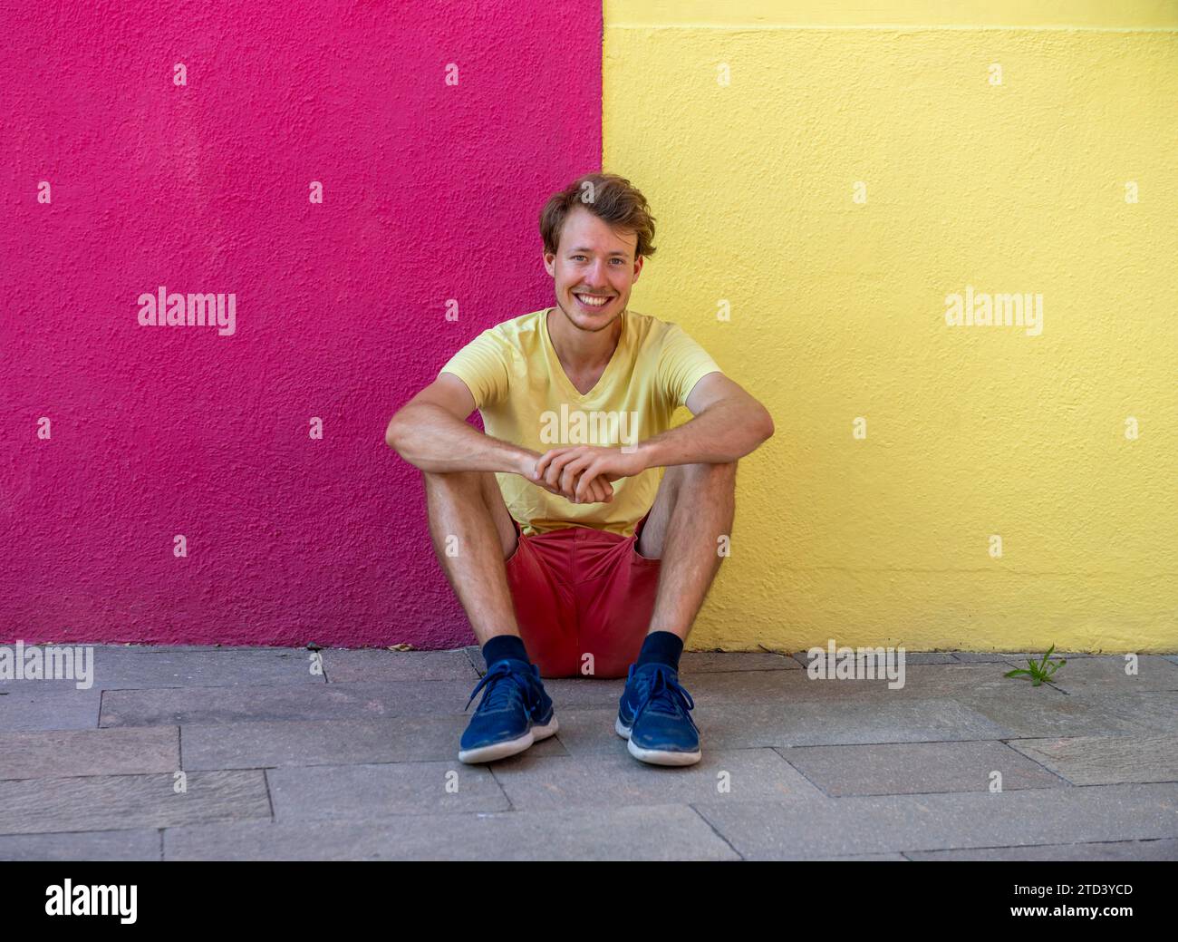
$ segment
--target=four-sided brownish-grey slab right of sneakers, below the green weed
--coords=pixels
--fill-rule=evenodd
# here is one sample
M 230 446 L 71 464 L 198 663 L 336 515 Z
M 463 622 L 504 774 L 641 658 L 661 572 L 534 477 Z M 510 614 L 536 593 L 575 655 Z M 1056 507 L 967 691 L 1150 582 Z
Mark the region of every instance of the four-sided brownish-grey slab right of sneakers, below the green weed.
M 1004 743 L 794 746 L 781 757 L 832 797 L 1071 788 L 1067 779 Z M 1145 780 L 1145 779 L 1143 779 Z

